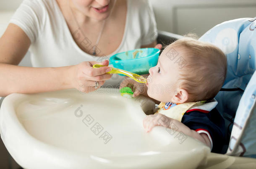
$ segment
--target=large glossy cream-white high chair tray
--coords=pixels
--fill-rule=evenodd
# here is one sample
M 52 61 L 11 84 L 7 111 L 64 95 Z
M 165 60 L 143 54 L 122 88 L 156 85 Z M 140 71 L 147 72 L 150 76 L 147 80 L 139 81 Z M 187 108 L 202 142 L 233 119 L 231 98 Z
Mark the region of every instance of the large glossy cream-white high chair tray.
M 194 169 L 205 164 L 210 149 L 200 141 L 162 126 L 144 131 L 144 111 L 153 107 L 148 98 L 128 99 L 110 88 L 88 94 L 74 89 L 13 93 L 0 109 L 0 134 L 26 169 Z

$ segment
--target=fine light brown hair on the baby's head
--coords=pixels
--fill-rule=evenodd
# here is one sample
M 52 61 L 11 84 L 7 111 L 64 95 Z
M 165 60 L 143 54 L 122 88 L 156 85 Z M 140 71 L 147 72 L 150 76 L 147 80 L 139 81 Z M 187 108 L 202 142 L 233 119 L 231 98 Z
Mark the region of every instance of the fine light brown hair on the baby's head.
M 222 50 L 193 38 L 176 40 L 168 48 L 173 47 L 181 49 L 179 54 L 184 59 L 178 85 L 188 92 L 188 101 L 214 98 L 222 88 L 227 72 L 227 58 Z

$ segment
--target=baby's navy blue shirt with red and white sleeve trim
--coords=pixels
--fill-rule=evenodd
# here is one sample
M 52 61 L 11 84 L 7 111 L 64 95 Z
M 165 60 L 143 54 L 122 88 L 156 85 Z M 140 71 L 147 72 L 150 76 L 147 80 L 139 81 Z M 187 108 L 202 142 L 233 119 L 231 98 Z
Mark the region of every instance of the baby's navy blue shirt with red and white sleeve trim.
M 187 111 L 181 120 L 183 124 L 198 133 L 205 133 L 212 143 L 212 152 L 220 153 L 225 144 L 225 121 L 216 108 L 212 111 Z

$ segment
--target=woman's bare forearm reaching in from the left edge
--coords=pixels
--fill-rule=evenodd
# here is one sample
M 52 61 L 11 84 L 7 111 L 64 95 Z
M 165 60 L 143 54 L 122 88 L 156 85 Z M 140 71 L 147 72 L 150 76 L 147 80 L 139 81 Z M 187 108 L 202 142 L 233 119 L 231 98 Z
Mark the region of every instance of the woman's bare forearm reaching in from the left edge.
M 68 74 L 70 68 L 31 68 L 0 63 L 0 96 L 72 88 Z

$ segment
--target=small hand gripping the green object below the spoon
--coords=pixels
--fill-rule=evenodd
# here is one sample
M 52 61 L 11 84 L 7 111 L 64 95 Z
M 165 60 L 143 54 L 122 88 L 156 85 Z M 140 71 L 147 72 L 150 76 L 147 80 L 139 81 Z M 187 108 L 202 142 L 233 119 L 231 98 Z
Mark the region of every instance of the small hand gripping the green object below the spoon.
M 148 75 L 141 75 L 144 78 Z M 133 91 L 133 97 L 137 97 L 140 94 L 145 94 L 147 92 L 147 87 L 145 83 L 138 83 L 134 81 L 132 78 L 125 77 L 125 80 L 120 84 L 120 88 L 130 87 Z

